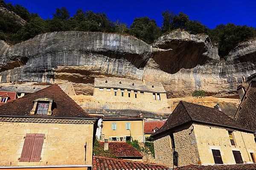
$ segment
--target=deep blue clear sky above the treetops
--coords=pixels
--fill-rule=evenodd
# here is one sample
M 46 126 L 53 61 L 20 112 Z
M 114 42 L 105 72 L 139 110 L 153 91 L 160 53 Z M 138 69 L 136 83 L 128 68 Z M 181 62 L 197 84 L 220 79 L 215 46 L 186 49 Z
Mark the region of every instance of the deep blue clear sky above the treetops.
M 20 4 L 42 18 L 52 18 L 56 8 L 66 7 L 70 16 L 76 10 L 105 12 L 110 20 L 130 25 L 135 17 L 149 17 L 161 26 L 162 11 L 184 12 L 209 28 L 235 23 L 256 27 L 256 0 L 5 0 Z

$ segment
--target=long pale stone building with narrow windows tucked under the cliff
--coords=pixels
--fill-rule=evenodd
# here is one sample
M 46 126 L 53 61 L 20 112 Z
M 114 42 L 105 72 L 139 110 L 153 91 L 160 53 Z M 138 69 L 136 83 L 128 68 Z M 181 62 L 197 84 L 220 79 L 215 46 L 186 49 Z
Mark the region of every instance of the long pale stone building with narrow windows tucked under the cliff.
M 156 111 L 169 106 L 161 82 L 95 78 L 93 96 L 102 102 L 123 103 L 122 109 Z

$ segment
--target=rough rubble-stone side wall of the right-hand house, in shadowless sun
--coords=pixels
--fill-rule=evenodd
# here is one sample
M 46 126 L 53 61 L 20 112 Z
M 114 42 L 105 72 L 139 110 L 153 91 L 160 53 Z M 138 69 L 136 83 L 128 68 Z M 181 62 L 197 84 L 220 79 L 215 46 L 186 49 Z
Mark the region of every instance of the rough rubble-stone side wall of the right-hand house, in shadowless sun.
M 173 134 L 175 149 L 179 154 L 179 166 L 200 163 L 195 134 L 193 132 L 189 134 L 192 131 L 191 129 L 192 127 Z M 169 135 L 155 140 L 154 149 L 157 164 L 164 164 L 168 167 L 173 166 L 173 149 Z

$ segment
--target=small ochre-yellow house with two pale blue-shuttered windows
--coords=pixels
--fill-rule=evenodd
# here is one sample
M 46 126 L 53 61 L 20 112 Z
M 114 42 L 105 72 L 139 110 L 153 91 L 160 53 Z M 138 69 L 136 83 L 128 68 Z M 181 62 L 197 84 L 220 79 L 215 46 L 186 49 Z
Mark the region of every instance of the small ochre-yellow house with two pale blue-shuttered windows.
M 102 141 L 144 142 L 144 119 L 142 117 L 102 117 Z

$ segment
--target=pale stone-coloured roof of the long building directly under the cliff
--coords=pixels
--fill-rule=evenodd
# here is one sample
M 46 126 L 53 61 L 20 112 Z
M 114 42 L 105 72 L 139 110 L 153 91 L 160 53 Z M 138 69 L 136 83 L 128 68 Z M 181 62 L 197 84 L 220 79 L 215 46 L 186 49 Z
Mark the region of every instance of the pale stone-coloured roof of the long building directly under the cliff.
M 119 83 L 121 82 L 121 83 Z M 161 82 L 143 82 L 141 80 L 131 80 L 123 78 L 95 78 L 94 87 L 96 88 L 124 88 L 137 91 L 148 91 L 166 93 Z

